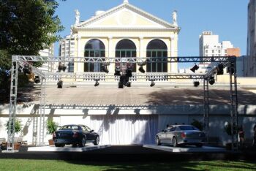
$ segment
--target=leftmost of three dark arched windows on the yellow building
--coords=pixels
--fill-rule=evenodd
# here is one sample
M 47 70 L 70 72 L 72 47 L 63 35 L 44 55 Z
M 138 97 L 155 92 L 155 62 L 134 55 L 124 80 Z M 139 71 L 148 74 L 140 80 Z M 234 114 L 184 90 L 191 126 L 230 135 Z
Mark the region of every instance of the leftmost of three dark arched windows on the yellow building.
M 99 39 L 91 39 L 86 43 L 85 57 L 105 57 L 105 45 Z M 84 72 L 103 72 L 100 63 L 84 63 Z

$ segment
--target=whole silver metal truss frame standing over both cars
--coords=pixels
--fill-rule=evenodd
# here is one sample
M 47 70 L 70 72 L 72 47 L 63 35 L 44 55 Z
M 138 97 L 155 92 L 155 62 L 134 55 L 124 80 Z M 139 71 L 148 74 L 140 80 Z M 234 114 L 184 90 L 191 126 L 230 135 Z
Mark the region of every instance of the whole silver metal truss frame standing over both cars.
M 232 126 L 232 144 L 233 149 L 238 148 L 238 98 L 237 98 L 237 83 L 236 83 L 236 57 L 227 56 L 214 56 L 214 57 L 160 57 L 160 58 L 105 58 L 105 57 L 42 57 L 42 56 L 12 56 L 12 69 L 11 69 L 11 89 L 10 89 L 10 114 L 9 114 L 9 125 L 8 125 L 8 139 L 7 139 L 7 151 L 14 151 L 14 122 L 16 116 L 16 105 L 17 105 L 17 90 L 18 90 L 18 70 L 20 67 L 29 65 L 32 72 L 35 75 L 41 77 L 41 100 L 39 104 L 39 142 L 38 145 L 44 145 L 44 134 L 45 134 L 45 109 L 49 107 L 61 107 L 61 105 L 53 106 L 50 104 L 45 104 L 45 83 L 46 80 L 60 80 L 62 78 L 75 78 L 88 80 L 118 80 L 117 76 L 106 75 L 105 73 L 68 73 L 68 72 L 42 72 L 36 67 L 32 66 L 33 62 L 42 63 L 54 63 L 54 62 L 72 62 L 72 63 L 131 63 L 131 64 L 141 64 L 141 63 L 203 63 L 203 62 L 214 62 L 217 65 L 222 64 L 224 67 L 228 67 L 230 71 L 230 123 Z M 203 92 L 204 92 L 204 131 L 209 136 L 209 88 L 208 83 L 211 77 L 217 75 L 218 67 L 214 67 L 211 71 L 204 75 L 197 74 L 171 74 L 171 73 L 146 73 L 146 74 L 135 74 L 131 77 L 131 80 L 144 79 L 144 80 L 170 80 L 170 79 L 192 79 L 192 80 L 203 80 Z M 62 106 L 64 107 L 64 106 Z M 138 105 L 138 106 L 117 106 L 112 105 L 111 107 L 103 107 L 107 110 L 113 110 L 116 107 L 124 109 L 151 109 L 148 105 Z M 76 109 L 102 109 L 99 105 L 75 105 Z M 65 105 L 65 109 L 74 109 L 74 105 Z M 34 121 L 33 121 L 34 122 Z M 34 140 L 37 142 L 37 140 Z

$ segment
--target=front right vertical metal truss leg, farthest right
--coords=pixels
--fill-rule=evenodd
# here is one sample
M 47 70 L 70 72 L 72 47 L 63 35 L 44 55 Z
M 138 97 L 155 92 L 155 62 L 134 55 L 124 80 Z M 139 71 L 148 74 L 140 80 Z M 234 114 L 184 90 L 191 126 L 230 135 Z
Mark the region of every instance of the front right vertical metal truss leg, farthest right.
M 238 150 L 238 96 L 236 81 L 236 62 L 230 63 L 230 119 L 232 149 Z

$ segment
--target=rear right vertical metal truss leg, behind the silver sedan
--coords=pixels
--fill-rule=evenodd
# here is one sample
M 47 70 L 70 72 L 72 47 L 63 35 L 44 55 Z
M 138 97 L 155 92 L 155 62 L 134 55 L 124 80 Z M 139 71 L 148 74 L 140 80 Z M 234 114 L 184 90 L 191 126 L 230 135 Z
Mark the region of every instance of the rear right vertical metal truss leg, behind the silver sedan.
M 206 132 L 207 142 L 209 139 L 209 86 L 208 79 L 203 79 L 203 129 Z

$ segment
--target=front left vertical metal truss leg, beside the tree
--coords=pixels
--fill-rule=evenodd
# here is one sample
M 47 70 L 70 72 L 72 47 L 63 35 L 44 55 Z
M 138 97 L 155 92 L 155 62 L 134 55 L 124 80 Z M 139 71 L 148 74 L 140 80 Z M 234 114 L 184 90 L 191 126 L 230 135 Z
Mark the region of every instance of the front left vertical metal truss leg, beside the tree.
M 12 60 L 7 151 L 14 151 L 17 88 L 18 88 L 18 62 L 15 60 Z

